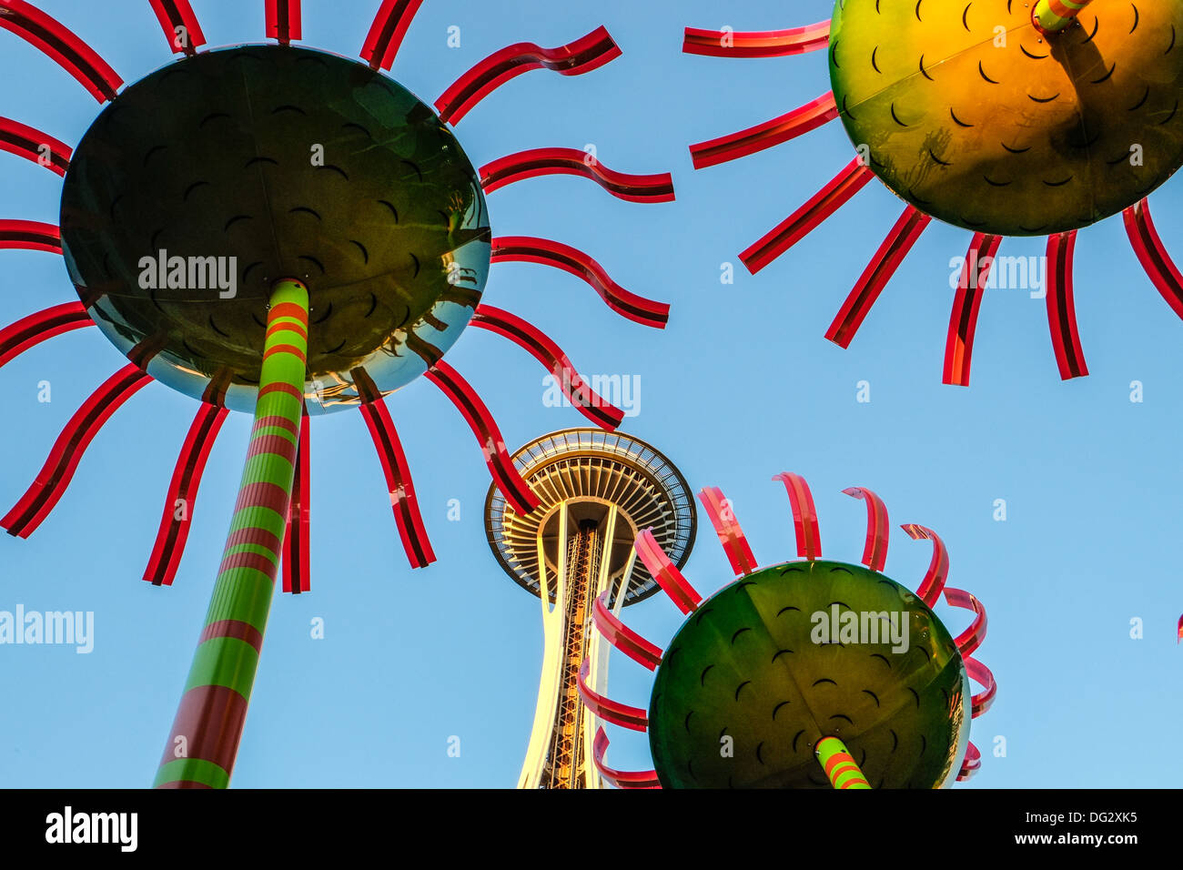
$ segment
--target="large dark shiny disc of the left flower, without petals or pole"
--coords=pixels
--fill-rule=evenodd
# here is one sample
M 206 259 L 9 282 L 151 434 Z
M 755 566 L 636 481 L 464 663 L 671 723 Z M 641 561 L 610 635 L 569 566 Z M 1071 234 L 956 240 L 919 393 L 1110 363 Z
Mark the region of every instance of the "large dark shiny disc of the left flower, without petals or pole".
M 317 414 L 360 404 L 353 369 L 389 393 L 440 359 L 490 264 L 477 172 L 435 112 L 360 63 L 282 46 L 201 53 L 116 97 L 73 155 L 62 233 L 122 352 L 151 347 L 154 378 L 246 412 L 276 281 L 309 286 Z

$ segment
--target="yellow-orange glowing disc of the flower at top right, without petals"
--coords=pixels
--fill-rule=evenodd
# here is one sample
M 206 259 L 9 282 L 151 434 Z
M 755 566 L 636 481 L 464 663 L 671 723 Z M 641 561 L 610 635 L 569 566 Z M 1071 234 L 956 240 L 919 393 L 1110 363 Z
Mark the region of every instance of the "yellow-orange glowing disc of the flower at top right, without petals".
M 1053 34 L 1030 6 L 836 5 L 842 123 L 920 211 L 997 236 L 1066 232 L 1183 163 L 1183 0 L 1097 0 Z

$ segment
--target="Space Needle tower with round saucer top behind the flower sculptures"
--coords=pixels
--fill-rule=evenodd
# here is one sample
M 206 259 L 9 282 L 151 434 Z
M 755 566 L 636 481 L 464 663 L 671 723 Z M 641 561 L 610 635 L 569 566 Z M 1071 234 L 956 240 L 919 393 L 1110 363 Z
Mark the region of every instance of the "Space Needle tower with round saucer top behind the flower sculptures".
M 521 788 L 600 788 L 595 717 L 580 697 L 607 688 L 608 651 L 590 631 L 597 610 L 621 607 L 659 587 L 633 542 L 653 529 L 675 562 L 690 555 L 694 505 L 678 470 L 644 442 L 599 430 L 538 439 L 515 457 L 541 505 L 523 516 L 492 489 L 490 546 L 505 572 L 539 597 L 543 664 Z M 581 670 L 586 665 L 586 674 Z

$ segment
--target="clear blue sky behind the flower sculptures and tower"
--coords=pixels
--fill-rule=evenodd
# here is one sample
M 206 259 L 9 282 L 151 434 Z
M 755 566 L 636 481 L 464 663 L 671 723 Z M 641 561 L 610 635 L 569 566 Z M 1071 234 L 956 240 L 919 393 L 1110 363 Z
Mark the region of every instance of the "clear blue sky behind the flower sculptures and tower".
M 170 60 L 147 1 L 43 0 L 134 82 Z M 212 45 L 259 41 L 264 4 L 194 0 Z M 305 44 L 356 56 L 376 0 L 308 0 Z M 510 43 L 554 46 L 606 25 L 623 57 L 582 77 L 531 72 L 458 127 L 479 166 L 535 147 L 594 144 L 622 172 L 671 170 L 678 201 L 618 201 L 581 179 L 551 178 L 491 195 L 498 236 L 542 236 L 587 250 L 631 290 L 672 303 L 655 331 L 612 314 L 576 278 L 496 265 L 485 301 L 545 329 L 586 374 L 639 376 L 625 430 L 664 450 L 697 491 L 732 500 L 762 563 L 794 553 L 783 488 L 813 485 L 827 556 L 856 561 L 865 485 L 893 524 L 938 530 L 950 584 L 985 604 L 980 658 L 998 700 L 974 724 L 984 754 L 969 787 L 1165 787 L 1181 762 L 1146 763 L 1127 747 L 1183 715 L 1175 619 L 1183 490 L 1177 451 L 1183 323 L 1143 273 L 1119 218 L 1084 231 L 1077 310 L 1092 375 L 1060 381 L 1041 301 L 988 292 L 972 387 L 940 385 L 953 291 L 949 262 L 969 233 L 932 226 L 849 350 L 823 337 L 847 291 L 899 215 L 873 183 L 788 256 L 751 277 L 737 253 L 851 159 L 838 124 L 762 154 L 694 172 L 686 146 L 765 121 L 828 88 L 825 57 L 725 60 L 680 53 L 686 25 L 765 30 L 810 24 L 826 0 L 652 0 L 496 4 L 427 0 L 393 75 L 426 102 Z M 450 26 L 461 47 L 447 46 Z M 95 101 L 0 32 L 0 115 L 77 143 Z M 0 215 L 57 221 L 60 180 L 0 154 Z M 1152 198 L 1159 232 L 1183 257 L 1183 188 Z M 1042 239 L 1002 253 L 1037 256 Z M 76 298 L 59 257 L 0 252 L 0 321 Z M 733 263 L 733 285 L 720 265 Z M 512 447 L 582 426 L 543 402 L 543 369 L 521 349 L 468 330 L 448 353 L 485 398 Z M 78 405 L 123 365 L 98 333 L 43 344 L 0 370 L 0 501 L 40 469 Z M 871 401 L 856 401 L 859 381 Z M 38 384 L 52 401 L 38 401 Z M 1131 402 L 1130 385 L 1144 385 Z M 439 561 L 412 572 L 360 414 L 317 418 L 312 432 L 312 593 L 277 594 L 234 784 L 263 786 L 512 786 L 534 715 L 542 627 L 537 599 L 497 566 L 481 508 L 489 476 L 448 400 L 416 381 L 389 399 Z M 95 650 L 0 646 L 0 785 L 150 784 L 200 631 L 230 521 L 250 421 L 230 419 L 211 458 L 189 546 L 172 588 L 144 584 L 162 500 L 193 418 L 192 400 L 154 384 L 91 445 L 57 510 L 28 540 L 0 539 L 0 610 L 93 611 Z M 995 501 L 1006 500 L 997 522 Z M 450 522 L 450 500 L 460 521 Z M 709 523 L 686 567 L 704 593 L 730 578 Z M 926 543 L 892 536 L 886 573 L 914 587 Z M 968 618 L 942 606 L 957 632 Z M 325 638 L 310 638 L 323 618 Z M 1131 619 L 1144 639 L 1130 637 Z M 661 597 L 627 611 L 658 644 L 680 618 Z M 652 676 L 614 657 L 614 697 L 645 705 Z M 460 737 L 450 758 L 448 739 Z M 609 762 L 648 767 L 641 735 L 612 729 Z M 991 748 L 1006 741 L 1006 756 Z

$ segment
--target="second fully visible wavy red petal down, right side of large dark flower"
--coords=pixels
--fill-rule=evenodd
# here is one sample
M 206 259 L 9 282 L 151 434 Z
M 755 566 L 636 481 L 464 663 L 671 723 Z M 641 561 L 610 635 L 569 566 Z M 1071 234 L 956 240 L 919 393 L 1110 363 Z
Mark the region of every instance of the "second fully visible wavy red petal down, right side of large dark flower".
M 494 160 L 480 168 L 480 183 L 485 193 L 492 193 L 516 181 L 541 175 L 580 175 L 595 181 L 616 199 L 629 202 L 674 200 L 670 173 L 628 175 L 613 172 L 587 152 L 575 148 L 535 148 Z

